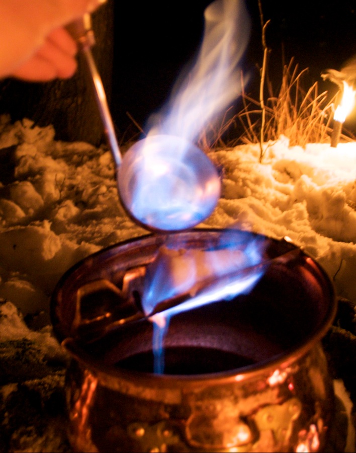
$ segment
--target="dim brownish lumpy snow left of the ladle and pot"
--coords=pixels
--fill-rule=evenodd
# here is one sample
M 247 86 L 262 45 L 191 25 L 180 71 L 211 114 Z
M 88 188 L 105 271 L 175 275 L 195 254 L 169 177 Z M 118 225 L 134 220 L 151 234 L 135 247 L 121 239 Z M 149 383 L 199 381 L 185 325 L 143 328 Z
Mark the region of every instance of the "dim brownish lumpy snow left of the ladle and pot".
M 51 126 L 0 120 L 0 297 L 24 315 L 48 313 L 56 282 L 78 260 L 146 233 L 118 201 L 110 153 L 54 136 Z

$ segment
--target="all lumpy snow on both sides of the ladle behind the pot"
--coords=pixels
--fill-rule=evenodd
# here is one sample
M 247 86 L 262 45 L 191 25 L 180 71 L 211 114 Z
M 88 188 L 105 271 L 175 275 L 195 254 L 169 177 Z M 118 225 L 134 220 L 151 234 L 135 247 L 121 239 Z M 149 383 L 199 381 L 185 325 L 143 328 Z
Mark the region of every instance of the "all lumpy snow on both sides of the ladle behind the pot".
M 288 236 L 356 301 L 356 143 L 217 149 L 223 193 L 201 228 Z M 111 154 L 55 139 L 51 126 L 0 118 L 0 297 L 48 314 L 60 276 L 104 247 L 147 234 L 120 205 Z

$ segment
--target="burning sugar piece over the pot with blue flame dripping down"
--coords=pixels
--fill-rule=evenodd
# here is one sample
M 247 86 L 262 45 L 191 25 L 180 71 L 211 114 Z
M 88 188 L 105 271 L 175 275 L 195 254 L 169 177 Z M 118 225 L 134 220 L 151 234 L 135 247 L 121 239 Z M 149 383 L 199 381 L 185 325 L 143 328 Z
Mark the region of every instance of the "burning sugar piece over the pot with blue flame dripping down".
M 219 300 L 230 300 L 236 295 L 247 293 L 263 274 L 256 266 L 250 272 L 237 275 L 234 272 L 258 265 L 261 261 L 265 241 L 256 238 L 250 243 L 223 241 L 209 250 L 161 247 L 155 260 L 147 266 L 142 295 L 142 308 L 146 315 L 160 301 L 184 292 L 191 294 L 188 300 L 151 316 L 153 322 L 153 355 L 155 373 L 164 371 L 163 342 L 172 316 L 193 310 Z M 241 250 L 243 249 L 243 250 Z M 215 282 L 201 291 L 199 283 L 207 278 Z

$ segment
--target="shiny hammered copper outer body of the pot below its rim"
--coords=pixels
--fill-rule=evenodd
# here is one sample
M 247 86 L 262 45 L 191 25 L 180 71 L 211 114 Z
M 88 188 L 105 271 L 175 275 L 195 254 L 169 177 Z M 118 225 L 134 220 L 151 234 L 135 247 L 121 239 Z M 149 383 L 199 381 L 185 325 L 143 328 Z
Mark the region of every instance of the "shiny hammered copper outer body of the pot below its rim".
M 293 365 L 243 378 L 148 383 L 75 360 L 70 443 L 75 451 L 323 451 L 333 389 L 320 344 Z

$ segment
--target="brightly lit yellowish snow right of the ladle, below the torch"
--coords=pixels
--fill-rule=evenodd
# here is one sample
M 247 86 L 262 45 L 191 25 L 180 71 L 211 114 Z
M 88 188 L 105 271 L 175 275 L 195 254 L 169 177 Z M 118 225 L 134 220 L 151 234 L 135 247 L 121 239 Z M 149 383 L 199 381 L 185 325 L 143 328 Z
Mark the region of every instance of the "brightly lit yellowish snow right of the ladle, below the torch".
M 286 137 L 218 150 L 223 197 L 207 225 L 236 226 L 273 238 L 289 237 L 356 300 L 356 143 L 289 146 Z

